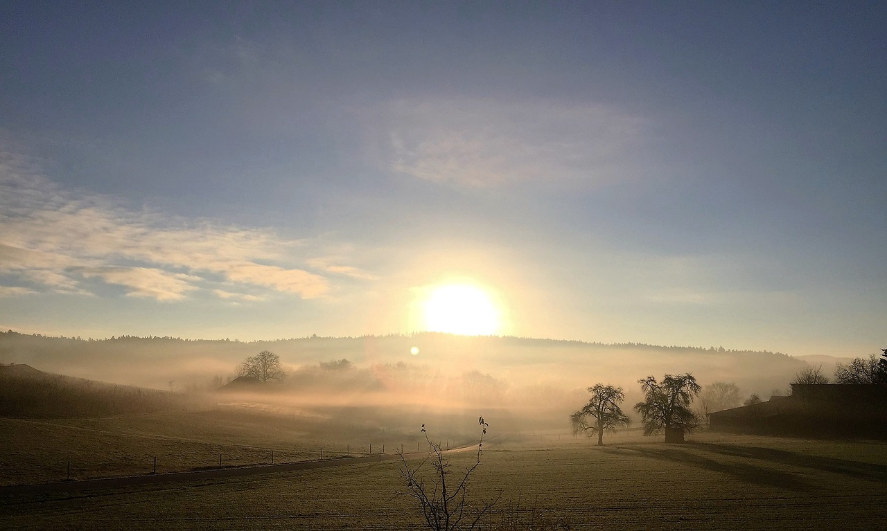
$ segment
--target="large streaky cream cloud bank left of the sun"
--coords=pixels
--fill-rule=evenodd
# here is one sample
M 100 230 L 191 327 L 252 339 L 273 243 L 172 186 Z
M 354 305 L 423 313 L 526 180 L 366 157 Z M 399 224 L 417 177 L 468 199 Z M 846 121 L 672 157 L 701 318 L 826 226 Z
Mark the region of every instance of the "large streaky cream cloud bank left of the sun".
M 112 197 L 64 190 L 22 157 L 0 158 L 0 273 L 19 284 L 7 286 L 7 295 L 89 293 L 83 280 L 100 279 L 157 301 L 257 288 L 312 299 L 328 292 L 327 273 L 373 278 L 354 266 L 312 265 L 311 243 L 270 229 L 133 210 Z M 235 287 L 213 288 L 220 283 Z

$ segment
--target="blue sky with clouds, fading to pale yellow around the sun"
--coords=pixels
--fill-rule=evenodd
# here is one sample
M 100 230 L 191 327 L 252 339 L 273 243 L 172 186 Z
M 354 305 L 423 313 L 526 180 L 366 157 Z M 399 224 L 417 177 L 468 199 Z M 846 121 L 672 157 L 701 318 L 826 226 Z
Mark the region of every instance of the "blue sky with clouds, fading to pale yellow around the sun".
M 498 335 L 880 353 L 885 20 L 4 2 L 0 328 L 410 333 L 472 285 Z

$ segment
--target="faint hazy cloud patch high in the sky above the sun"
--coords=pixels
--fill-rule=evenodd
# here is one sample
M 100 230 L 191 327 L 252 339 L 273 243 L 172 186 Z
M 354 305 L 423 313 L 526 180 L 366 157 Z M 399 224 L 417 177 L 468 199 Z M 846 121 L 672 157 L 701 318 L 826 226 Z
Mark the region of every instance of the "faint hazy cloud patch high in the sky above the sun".
M 624 178 L 645 126 L 605 105 L 546 101 L 404 100 L 384 114 L 391 169 L 468 188 Z

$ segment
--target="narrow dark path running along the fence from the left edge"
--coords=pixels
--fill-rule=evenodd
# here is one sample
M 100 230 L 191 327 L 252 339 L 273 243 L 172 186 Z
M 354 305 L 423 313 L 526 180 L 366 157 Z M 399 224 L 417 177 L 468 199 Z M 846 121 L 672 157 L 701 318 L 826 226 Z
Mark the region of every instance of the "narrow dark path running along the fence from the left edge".
M 443 453 L 459 453 L 476 446 L 443 450 Z M 407 456 L 428 454 L 406 454 Z M 378 456 L 365 457 L 341 457 L 337 459 L 324 459 L 320 461 L 300 461 L 284 465 L 260 465 L 244 466 L 238 468 L 219 468 L 214 470 L 201 470 L 197 472 L 173 472 L 167 474 L 145 474 L 142 476 L 127 476 L 123 478 L 104 478 L 100 480 L 62 481 L 59 483 L 43 483 L 41 485 L 12 485 L 0 487 L 0 496 L 17 494 L 41 494 L 44 492 L 80 491 L 92 488 L 122 488 L 138 485 L 154 485 L 157 483 L 171 483 L 176 481 L 216 480 L 219 478 L 234 478 L 239 476 L 252 476 L 256 474 L 270 474 L 277 472 L 295 472 L 310 470 L 313 468 L 327 468 L 332 466 L 359 465 L 362 463 L 378 463 L 399 459 L 396 454 L 380 454 Z

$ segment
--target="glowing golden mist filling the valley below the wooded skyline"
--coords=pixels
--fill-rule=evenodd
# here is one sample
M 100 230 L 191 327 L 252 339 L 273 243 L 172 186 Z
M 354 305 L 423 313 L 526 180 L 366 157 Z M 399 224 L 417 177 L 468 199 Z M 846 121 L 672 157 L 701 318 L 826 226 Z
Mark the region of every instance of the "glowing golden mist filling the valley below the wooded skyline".
M 279 356 L 281 379 L 229 384 L 239 363 L 260 351 Z M 279 411 L 324 408 L 411 410 L 421 416 L 500 411 L 523 426 L 568 426 L 585 387 L 624 387 L 640 400 L 638 379 L 692 372 L 703 385 L 734 383 L 742 397 L 788 394 L 807 363 L 771 352 L 720 347 L 602 345 L 579 341 L 412 336 L 302 338 L 240 342 L 122 337 L 79 340 L 0 333 L 0 361 L 42 371 L 166 391 L 216 402 L 264 402 Z M 226 386 L 226 384 L 229 384 Z

